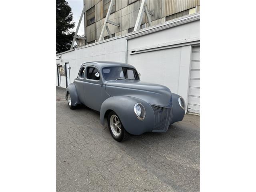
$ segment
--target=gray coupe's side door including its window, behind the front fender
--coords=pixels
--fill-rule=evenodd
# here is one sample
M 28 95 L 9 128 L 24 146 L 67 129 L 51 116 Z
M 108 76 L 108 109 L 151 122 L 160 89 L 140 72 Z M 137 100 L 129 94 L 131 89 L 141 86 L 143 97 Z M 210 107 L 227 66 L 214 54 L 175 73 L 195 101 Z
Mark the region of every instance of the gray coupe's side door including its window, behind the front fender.
M 96 111 L 100 111 L 102 104 L 102 78 L 98 68 L 93 65 L 86 66 L 86 77 L 84 83 L 85 105 Z M 96 74 L 98 75 L 96 76 Z

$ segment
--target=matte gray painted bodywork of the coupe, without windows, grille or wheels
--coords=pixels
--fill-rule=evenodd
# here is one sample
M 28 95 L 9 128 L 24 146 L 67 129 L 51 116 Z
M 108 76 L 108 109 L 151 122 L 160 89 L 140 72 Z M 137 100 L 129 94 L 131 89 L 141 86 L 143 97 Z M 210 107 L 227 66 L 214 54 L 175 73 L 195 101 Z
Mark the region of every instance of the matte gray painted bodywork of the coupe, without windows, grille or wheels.
M 87 62 L 82 64 L 80 70 L 93 66 L 100 72 L 100 80 L 90 80 L 79 76 L 66 90 L 70 92 L 72 105 L 84 104 L 93 110 L 100 111 L 100 122 L 104 125 L 105 114 L 113 110 L 118 114 L 127 132 L 139 135 L 144 132 L 152 132 L 154 128 L 154 111 L 150 104 L 171 107 L 173 106 L 173 118 L 171 124 L 181 121 L 184 110 L 178 103 L 179 95 L 171 93 L 166 86 L 141 82 L 139 80 L 104 80 L 102 68 L 109 66 L 123 66 L 134 68 L 132 65 L 120 62 Z M 135 68 L 134 68 L 135 69 Z M 79 72 L 80 72 L 79 70 Z M 134 105 L 140 102 L 146 110 L 144 120 L 136 118 Z

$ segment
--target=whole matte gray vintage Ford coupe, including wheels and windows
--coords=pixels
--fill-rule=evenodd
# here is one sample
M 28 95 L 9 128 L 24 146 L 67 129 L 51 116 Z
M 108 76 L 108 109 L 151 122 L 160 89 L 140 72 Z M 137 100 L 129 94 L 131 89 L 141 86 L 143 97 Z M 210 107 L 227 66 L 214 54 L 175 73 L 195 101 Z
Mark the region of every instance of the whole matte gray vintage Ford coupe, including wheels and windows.
M 86 62 L 77 78 L 68 85 L 70 109 L 78 104 L 107 118 L 112 137 L 121 142 L 128 133 L 166 132 L 185 114 L 184 99 L 166 86 L 140 81 L 134 66 L 120 62 Z M 128 133 L 127 133 L 128 132 Z

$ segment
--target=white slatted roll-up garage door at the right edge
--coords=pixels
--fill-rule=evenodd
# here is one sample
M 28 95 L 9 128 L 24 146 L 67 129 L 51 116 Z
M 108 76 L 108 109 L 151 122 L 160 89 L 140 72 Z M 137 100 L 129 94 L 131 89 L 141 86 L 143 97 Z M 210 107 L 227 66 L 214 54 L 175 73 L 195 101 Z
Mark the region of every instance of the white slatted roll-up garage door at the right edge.
M 200 46 L 192 50 L 188 111 L 200 114 Z

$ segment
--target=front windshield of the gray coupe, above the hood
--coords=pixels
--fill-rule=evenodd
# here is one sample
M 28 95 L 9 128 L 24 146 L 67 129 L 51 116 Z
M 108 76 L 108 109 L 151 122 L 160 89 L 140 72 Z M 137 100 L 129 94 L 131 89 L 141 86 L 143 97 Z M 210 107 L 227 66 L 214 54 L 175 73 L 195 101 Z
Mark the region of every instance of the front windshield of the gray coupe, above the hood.
M 105 80 L 133 79 L 138 80 L 139 76 L 135 69 L 128 67 L 106 67 L 102 69 Z

